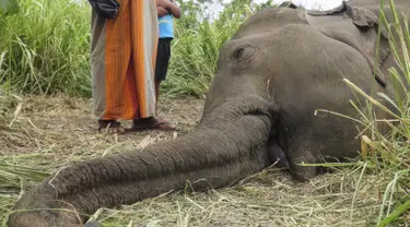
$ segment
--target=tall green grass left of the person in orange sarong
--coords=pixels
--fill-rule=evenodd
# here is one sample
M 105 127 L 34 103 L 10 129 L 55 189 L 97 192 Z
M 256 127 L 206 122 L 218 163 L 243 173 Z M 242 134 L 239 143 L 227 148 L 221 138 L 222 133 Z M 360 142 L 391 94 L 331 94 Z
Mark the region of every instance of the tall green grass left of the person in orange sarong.
M 90 95 L 90 8 L 71 0 L 20 0 L 2 16 L 0 83 L 25 94 Z

